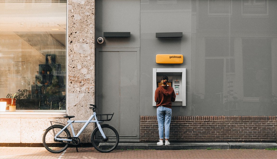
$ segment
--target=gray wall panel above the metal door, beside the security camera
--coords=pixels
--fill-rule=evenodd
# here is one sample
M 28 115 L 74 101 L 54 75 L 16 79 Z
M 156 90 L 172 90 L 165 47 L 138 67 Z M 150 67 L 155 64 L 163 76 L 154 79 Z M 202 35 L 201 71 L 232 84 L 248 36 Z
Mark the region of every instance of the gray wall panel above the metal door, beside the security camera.
M 103 32 L 130 32 L 131 37 L 103 37 L 96 48 L 140 47 L 140 1 L 96 0 L 95 37 Z

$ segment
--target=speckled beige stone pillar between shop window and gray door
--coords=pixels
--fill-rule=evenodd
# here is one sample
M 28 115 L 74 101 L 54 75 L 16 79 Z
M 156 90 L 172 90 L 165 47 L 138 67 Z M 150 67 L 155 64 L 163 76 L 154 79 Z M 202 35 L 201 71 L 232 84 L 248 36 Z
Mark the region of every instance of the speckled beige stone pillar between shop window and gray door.
M 89 104 L 94 104 L 95 71 L 95 1 L 68 1 L 68 55 L 67 55 L 67 112 L 74 120 L 86 120 L 92 114 Z M 74 125 L 77 133 L 83 123 Z M 83 132 L 81 142 L 90 142 L 94 124 Z

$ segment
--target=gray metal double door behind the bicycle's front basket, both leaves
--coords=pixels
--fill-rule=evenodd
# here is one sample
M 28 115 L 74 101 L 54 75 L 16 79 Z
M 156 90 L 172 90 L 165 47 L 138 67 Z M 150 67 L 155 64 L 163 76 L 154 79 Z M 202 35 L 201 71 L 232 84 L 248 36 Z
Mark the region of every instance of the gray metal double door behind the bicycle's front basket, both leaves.
M 139 139 L 139 58 L 139 48 L 96 49 L 97 113 L 114 112 L 105 123 L 116 128 L 120 139 Z

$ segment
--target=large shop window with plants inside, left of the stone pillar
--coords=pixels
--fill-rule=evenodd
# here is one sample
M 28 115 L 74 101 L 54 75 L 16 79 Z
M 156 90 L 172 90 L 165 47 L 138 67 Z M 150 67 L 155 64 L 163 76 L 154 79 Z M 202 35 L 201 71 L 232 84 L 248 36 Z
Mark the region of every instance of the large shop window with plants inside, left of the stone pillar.
M 0 102 L 6 102 L 5 111 L 15 105 L 16 111 L 64 112 L 66 1 L 0 0 L 0 17 Z

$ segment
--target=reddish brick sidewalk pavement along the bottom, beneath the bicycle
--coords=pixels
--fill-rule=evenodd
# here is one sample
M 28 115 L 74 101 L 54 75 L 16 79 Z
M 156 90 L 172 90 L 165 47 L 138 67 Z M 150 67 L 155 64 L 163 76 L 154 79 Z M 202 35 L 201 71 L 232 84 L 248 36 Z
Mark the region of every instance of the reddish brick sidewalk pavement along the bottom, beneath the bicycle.
M 114 150 L 101 153 L 94 148 L 68 148 L 51 153 L 44 147 L 0 147 L 0 159 L 87 159 L 87 158 L 277 158 L 276 150 Z

